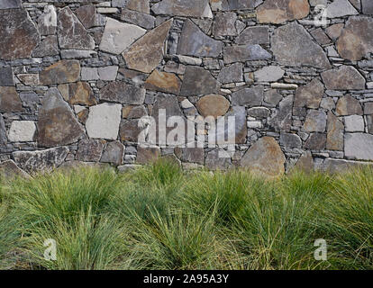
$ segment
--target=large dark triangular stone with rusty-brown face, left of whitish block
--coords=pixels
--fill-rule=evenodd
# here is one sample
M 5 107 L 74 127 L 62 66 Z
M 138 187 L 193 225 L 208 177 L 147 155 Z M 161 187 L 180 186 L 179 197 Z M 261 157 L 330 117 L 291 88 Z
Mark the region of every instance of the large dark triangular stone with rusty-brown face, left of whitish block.
M 85 130 L 57 88 L 50 88 L 41 101 L 38 130 L 40 147 L 68 145 L 85 137 Z

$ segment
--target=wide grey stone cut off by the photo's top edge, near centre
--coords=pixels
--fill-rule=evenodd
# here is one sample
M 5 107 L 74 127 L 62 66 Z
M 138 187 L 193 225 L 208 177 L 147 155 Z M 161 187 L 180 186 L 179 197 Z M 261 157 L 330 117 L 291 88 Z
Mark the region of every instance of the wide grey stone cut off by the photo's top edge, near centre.
M 154 14 L 213 18 L 208 0 L 162 0 L 151 7 Z

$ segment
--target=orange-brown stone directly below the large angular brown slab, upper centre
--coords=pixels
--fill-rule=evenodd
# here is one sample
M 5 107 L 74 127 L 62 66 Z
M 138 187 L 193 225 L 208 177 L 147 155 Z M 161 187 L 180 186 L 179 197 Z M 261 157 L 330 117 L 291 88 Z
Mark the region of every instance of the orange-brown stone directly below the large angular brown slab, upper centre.
M 154 70 L 145 81 L 145 88 L 170 94 L 179 94 L 180 79 L 173 73 Z

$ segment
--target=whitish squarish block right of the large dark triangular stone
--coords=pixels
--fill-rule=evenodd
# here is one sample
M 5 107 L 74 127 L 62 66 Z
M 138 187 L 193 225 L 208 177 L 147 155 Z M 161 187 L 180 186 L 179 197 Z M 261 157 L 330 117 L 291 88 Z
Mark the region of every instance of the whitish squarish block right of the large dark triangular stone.
M 86 132 L 89 138 L 117 139 L 122 105 L 102 103 L 89 108 Z

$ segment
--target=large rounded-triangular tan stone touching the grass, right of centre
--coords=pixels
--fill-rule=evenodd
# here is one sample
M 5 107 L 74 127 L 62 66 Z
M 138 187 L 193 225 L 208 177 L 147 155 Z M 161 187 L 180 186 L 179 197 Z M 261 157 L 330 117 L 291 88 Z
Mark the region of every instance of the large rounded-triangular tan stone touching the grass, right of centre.
M 241 166 L 251 173 L 278 177 L 285 173 L 285 156 L 276 139 L 262 137 L 241 158 Z

